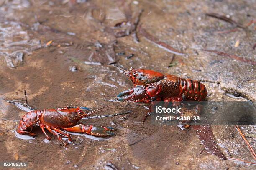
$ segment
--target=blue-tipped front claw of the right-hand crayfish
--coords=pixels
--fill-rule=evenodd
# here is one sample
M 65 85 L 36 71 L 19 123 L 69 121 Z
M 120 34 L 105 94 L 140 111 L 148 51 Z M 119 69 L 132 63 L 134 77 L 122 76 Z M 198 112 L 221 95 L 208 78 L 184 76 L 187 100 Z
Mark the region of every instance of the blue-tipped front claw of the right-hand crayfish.
M 117 95 L 120 102 L 136 102 L 147 98 L 145 87 L 137 85 L 130 90 L 125 90 Z

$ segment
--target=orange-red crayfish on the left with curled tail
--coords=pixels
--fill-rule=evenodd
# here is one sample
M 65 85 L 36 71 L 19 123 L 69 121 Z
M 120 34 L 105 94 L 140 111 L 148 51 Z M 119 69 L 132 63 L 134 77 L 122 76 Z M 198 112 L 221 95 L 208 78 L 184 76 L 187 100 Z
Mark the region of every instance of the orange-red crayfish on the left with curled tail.
M 104 107 L 102 107 L 104 108 Z M 101 108 L 100 108 L 101 109 Z M 50 133 L 57 136 L 64 145 L 67 145 L 67 142 L 64 142 L 59 134 L 67 136 L 69 141 L 72 141 L 70 135 L 63 131 L 69 132 L 78 132 L 86 133 L 88 135 L 94 136 L 113 136 L 115 135 L 112 131 L 112 127 L 104 127 L 97 125 L 77 125 L 77 122 L 83 117 L 86 117 L 97 110 L 86 113 L 90 109 L 86 107 L 63 107 L 58 109 L 44 109 L 44 110 L 34 110 L 26 113 L 17 128 L 17 132 L 21 135 L 36 136 L 35 133 L 28 132 L 27 130 L 32 130 L 34 125 L 39 125 L 44 135 L 48 140 L 51 140 L 45 129 L 46 128 Z

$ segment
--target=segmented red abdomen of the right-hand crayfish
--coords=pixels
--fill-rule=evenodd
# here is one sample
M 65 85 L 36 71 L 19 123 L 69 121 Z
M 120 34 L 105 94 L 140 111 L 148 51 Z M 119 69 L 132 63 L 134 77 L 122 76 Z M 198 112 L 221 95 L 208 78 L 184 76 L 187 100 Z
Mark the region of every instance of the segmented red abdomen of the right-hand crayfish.
M 203 101 L 207 96 L 205 85 L 199 81 L 179 78 L 179 85 L 187 100 Z

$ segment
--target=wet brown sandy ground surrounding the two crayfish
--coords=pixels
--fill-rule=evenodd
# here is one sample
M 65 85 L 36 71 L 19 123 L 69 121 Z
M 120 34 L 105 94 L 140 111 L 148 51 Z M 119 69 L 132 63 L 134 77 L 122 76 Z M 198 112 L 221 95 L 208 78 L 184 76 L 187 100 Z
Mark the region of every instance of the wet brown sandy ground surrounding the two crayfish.
M 0 1 L 0 161 L 28 162 L 28 167 L 22 169 L 108 169 L 109 161 L 119 170 L 255 168 L 202 151 L 204 147 L 192 129 L 152 125 L 150 118 L 141 124 L 146 111 L 142 104 L 98 113 L 132 110 L 130 115 L 81 120 L 84 124 L 118 128 L 116 136 L 109 140 L 72 135 L 74 143 L 65 148 L 56 138 L 44 142 L 39 128 L 34 129 L 38 135 L 34 140 L 16 138 L 13 129 L 26 112 L 4 99 L 24 101 L 23 90 L 28 103 L 36 109 L 95 109 L 113 104 L 109 100 L 115 100 L 115 94 L 131 87 L 125 75 L 90 70 L 115 69 L 84 61 L 201 80 L 212 101 L 255 102 L 255 65 L 200 50 L 220 50 L 256 61 L 254 24 L 236 28 L 205 15 L 229 15 L 247 25 L 256 16 L 254 0 L 77 2 Z M 138 27 L 129 27 L 136 23 L 141 9 Z M 126 25 L 119 28 L 122 22 Z M 116 32 L 127 27 L 132 33 L 118 36 Z M 140 28 L 184 55 L 157 46 L 138 31 Z M 236 32 L 221 33 L 234 28 Z M 139 43 L 134 40 L 134 30 Z M 70 66 L 77 71 L 70 71 Z M 244 134 L 255 134 L 255 126 L 241 129 Z M 212 126 L 212 131 L 225 155 L 228 149 L 233 158 L 255 161 L 233 126 Z M 255 137 L 247 139 L 255 148 Z

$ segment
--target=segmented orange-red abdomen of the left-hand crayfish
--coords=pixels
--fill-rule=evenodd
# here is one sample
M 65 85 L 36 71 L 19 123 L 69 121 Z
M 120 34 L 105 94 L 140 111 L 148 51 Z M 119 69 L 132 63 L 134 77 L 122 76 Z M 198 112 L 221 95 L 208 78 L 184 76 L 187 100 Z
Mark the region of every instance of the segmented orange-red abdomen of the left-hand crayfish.
M 34 110 L 26 113 L 20 120 L 20 124 L 17 130 L 26 130 L 28 127 L 35 125 L 36 122 L 40 120 L 41 115 L 45 112 L 45 110 Z

